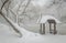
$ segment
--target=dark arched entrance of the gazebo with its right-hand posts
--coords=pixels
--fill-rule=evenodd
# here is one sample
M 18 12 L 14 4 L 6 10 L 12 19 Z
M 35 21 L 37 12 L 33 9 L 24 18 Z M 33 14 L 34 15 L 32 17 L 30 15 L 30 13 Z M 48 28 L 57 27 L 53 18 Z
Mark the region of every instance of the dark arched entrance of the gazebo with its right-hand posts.
M 56 34 L 56 21 L 53 19 L 47 20 L 48 24 L 50 24 L 50 33 Z

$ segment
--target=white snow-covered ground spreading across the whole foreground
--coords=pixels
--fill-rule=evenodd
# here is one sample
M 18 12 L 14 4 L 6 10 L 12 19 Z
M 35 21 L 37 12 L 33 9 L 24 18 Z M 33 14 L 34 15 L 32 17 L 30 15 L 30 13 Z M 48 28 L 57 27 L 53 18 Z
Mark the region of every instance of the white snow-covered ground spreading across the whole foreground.
M 0 15 L 0 43 L 66 43 L 66 35 L 41 35 L 21 28 L 25 31 L 22 37 L 19 37 L 8 22 Z

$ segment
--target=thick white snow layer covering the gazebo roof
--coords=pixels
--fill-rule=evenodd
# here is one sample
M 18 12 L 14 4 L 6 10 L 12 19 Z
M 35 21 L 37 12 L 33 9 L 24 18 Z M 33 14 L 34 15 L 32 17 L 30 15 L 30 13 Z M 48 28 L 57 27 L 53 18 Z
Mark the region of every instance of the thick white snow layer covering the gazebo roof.
M 59 20 L 57 20 L 56 18 L 54 18 L 54 17 L 52 17 L 52 15 L 43 15 L 42 18 L 40 18 L 40 19 L 37 20 L 37 23 L 46 23 L 47 20 L 50 20 L 50 19 L 55 20 L 56 23 L 62 23 Z

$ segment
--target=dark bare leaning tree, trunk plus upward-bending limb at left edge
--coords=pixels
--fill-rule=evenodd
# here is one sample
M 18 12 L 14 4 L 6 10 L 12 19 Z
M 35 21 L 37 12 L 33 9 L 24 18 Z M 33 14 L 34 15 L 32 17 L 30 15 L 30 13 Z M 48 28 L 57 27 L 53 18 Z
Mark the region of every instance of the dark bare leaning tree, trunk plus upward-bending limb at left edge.
M 18 30 L 18 28 L 14 26 L 14 24 L 4 15 L 4 13 L 2 12 L 2 9 L 4 7 L 4 4 L 8 2 L 9 0 L 6 0 L 3 3 L 2 3 L 2 7 L 0 9 L 0 14 L 10 23 L 10 25 L 13 28 L 13 30 L 20 34 L 20 36 L 22 36 L 22 33 Z

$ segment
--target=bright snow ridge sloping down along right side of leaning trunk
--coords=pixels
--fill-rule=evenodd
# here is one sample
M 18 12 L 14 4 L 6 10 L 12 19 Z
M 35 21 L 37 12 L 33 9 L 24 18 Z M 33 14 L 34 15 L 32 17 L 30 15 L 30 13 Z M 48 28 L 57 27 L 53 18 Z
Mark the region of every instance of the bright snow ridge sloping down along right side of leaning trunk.
M 19 30 L 21 33 L 22 33 L 22 35 L 29 35 L 29 34 L 32 34 L 32 35 L 40 35 L 38 33 L 33 33 L 33 32 L 30 32 L 30 31 L 28 31 L 28 30 L 25 30 L 24 28 L 21 28 L 21 26 L 19 26 L 16 23 L 14 23 L 14 22 L 12 22 L 9 18 L 8 18 L 8 20 L 13 24 L 13 26 L 15 26 L 15 29 L 16 30 Z

